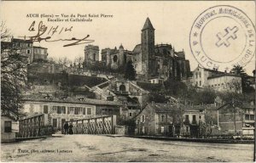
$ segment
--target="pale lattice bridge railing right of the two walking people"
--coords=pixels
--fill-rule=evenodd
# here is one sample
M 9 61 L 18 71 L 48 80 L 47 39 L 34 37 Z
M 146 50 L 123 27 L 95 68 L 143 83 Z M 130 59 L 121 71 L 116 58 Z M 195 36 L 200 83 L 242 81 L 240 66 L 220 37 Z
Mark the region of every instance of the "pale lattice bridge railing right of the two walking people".
M 114 134 L 116 115 L 71 121 L 74 134 Z

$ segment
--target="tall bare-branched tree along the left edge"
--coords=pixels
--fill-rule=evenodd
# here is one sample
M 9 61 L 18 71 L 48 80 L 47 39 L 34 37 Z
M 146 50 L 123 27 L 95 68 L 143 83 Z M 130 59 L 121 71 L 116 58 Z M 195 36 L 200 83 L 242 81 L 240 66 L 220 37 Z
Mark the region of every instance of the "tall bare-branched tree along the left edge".
M 1 24 L 1 40 L 10 37 L 9 30 Z M 12 42 L 1 42 L 1 115 L 21 115 L 22 88 L 26 86 L 27 57 Z

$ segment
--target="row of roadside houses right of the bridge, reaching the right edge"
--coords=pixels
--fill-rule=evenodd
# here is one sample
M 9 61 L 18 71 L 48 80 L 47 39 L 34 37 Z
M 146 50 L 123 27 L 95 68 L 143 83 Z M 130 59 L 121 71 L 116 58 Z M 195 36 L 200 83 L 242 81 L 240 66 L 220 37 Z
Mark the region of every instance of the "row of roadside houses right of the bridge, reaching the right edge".
M 253 138 L 255 104 L 148 104 L 136 119 L 137 135 L 183 138 Z

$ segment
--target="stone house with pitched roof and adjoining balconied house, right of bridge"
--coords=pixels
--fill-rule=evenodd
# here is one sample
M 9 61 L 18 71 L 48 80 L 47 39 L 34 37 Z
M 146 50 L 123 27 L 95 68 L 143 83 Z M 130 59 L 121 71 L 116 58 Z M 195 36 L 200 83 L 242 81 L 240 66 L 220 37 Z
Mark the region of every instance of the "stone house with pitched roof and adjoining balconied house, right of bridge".
M 137 135 L 198 137 L 203 110 L 183 104 L 148 104 L 136 118 Z

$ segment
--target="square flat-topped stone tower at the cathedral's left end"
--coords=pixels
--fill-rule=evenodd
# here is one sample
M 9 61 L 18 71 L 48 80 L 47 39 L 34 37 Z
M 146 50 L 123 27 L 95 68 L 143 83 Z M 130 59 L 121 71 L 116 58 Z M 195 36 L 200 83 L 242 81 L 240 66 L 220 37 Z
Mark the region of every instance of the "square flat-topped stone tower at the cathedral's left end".
M 87 45 L 84 48 L 84 63 L 85 65 L 94 64 L 99 60 L 99 47 L 94 45 Z

